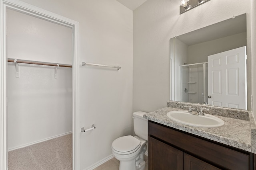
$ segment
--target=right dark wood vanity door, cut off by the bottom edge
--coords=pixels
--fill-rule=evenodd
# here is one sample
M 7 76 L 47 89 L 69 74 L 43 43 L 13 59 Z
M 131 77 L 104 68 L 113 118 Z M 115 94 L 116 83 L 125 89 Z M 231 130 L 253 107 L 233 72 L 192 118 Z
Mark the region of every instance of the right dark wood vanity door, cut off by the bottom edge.
M 184 153 L 184 170 L 220 170 L 194 156 Z

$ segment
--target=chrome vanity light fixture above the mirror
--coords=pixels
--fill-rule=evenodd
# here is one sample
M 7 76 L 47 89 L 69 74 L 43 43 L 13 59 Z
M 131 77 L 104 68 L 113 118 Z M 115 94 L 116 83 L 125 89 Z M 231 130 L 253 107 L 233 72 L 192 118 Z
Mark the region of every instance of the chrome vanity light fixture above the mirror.
M 181 0 L 180 14 L 187 12 L 188 10 L 191 10 L 192 8 L 195 8 L 196 6 L 204 4 L 205 2 L 208 2 L 208 1 L 210 0 Z

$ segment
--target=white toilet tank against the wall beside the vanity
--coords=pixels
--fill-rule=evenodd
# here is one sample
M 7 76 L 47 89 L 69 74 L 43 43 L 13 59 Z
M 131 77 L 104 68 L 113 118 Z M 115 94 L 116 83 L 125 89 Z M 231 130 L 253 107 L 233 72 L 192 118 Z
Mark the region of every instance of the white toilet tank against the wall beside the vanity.
M 146 112 L 143 111 L 136 111 L 133 113 L 133 126 L 135 134 L 148 141 L 148 120 L 143 118 L 143 115 Z

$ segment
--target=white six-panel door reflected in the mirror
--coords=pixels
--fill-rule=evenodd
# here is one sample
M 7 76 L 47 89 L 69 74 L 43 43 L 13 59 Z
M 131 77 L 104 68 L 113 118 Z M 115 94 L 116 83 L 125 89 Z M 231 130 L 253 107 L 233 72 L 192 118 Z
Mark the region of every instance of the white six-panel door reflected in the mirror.
M 208 56 L 208 103 L 247 109 L 246 46 Z

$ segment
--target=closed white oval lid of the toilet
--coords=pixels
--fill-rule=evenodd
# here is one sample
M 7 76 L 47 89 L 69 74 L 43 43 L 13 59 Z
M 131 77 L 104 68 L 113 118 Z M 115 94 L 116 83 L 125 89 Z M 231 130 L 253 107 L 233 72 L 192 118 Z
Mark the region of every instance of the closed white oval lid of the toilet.
M 114 140 L 114 142 L 112 143 L 112 148 L 118 152 L 129 152 L 138 148 L 139 145 L 140 140 L 129 135 Z

